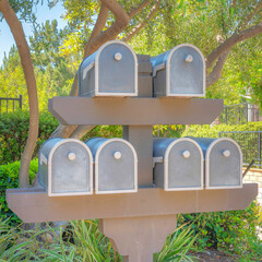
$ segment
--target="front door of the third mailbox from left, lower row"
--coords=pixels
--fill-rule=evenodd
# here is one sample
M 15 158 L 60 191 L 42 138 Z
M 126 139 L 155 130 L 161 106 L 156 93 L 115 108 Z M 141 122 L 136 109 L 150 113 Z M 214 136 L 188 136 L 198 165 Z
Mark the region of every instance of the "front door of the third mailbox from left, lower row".
M 190 139 L 179 139 L 165 154 L 165 189 L 203 189 L 203 153 Z

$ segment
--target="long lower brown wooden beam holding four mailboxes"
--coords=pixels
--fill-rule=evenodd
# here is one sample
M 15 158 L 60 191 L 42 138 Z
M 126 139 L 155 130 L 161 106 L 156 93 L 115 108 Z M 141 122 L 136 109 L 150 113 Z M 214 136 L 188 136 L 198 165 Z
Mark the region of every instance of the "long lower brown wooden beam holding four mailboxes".
M 245 210 L 257 196 L 258 184 L 242 189 L 164 191 L 50 198 L 43 189 L 9 189 L 9 207 L 24 222 L 139 217 L 213 211 Z

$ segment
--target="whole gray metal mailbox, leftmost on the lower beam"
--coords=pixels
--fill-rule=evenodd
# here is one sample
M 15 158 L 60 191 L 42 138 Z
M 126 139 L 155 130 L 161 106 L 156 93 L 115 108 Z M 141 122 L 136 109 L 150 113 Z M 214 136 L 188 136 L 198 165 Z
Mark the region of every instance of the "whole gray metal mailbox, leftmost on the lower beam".
M 39 151 L 39 183 L 49 196 L 93 193 L 93 156 L 75 139 L 50 139 Z

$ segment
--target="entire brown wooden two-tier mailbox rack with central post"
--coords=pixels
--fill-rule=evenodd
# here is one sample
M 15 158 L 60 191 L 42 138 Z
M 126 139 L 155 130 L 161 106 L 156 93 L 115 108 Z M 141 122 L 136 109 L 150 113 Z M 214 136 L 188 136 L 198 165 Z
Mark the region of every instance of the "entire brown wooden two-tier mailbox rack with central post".
M 99 218 L 99 229 L 129 262 L 152 262 L 177 226 L 177 214 L 243 210 L 258 184 L 241 189 L 163 191 L 153 184 L 153 126 L 211 123 L 223 100 L 152 98 L 150 56 L 139 58 L 138 98 L 55 97 L 49 110 L 63 124 L 122 124 L 138 154 L 136 193 L 49 198 L 43 188 L 7 190 L 9 207 L 24 222 Z M 70 106 L 69 106 L 70 105 Z

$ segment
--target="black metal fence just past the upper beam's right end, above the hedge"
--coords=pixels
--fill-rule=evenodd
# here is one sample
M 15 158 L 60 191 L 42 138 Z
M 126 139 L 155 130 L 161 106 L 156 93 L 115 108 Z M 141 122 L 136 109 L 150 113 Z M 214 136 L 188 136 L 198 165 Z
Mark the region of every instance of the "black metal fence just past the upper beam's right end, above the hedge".
M 262 121 L 262 116 L 257 105 L 248 103 L 225 106 L 219 117 L 219 123 L 242 124 L 246 122 Z

